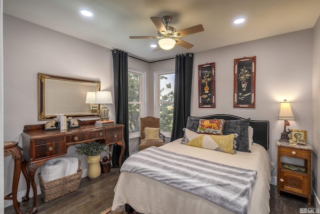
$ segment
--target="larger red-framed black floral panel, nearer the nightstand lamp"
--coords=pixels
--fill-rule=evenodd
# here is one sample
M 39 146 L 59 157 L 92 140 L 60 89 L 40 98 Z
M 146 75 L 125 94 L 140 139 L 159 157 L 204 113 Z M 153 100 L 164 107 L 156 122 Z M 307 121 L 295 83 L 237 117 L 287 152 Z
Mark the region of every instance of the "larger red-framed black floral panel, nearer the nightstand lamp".
M 233 108 L 255 108 L 255 56 L 234 60 Z

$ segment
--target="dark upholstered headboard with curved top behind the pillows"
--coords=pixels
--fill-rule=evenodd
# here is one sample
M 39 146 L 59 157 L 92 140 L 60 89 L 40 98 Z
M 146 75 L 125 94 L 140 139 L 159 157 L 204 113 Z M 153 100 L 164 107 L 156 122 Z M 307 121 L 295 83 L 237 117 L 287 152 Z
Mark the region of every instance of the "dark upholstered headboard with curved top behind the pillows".
M 194 116 L 191 116 L 194 117 Z M 212 114 L 208 116 L 195 117 L 200 119 L 224 119 L 239 120 L 242 117 L 229 114 Z M 269 121 L 267 120 L 250 120 L 249 125 L 253 128 L 253 142 L 260 144 L 265 149 L 269 149 Z

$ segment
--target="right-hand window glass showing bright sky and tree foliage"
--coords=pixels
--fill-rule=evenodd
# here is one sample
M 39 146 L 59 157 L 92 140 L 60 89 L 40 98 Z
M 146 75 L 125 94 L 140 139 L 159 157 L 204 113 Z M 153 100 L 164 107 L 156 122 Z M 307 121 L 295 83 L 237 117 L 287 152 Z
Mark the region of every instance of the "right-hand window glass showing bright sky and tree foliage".
M 174 72 L 158 73 L 157 116 L 161 132 L 171 135 L 173 123 Z

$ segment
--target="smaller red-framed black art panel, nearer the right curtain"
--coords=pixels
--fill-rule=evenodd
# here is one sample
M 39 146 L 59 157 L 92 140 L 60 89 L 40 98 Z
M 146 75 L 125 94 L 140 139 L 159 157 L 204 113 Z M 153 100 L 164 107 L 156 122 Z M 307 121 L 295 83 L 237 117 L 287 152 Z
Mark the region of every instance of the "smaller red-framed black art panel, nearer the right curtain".
M 198 65 L 199 108 L 215 108 L 215 63 Z

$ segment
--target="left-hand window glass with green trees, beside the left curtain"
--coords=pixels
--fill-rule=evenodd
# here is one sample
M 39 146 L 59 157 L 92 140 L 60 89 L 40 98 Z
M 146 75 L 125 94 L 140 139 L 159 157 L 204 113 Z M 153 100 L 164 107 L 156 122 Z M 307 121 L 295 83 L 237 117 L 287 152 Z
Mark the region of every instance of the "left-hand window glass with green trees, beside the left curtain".
M 142 73 L 128 72 L 129 134 L 140 132 Z

